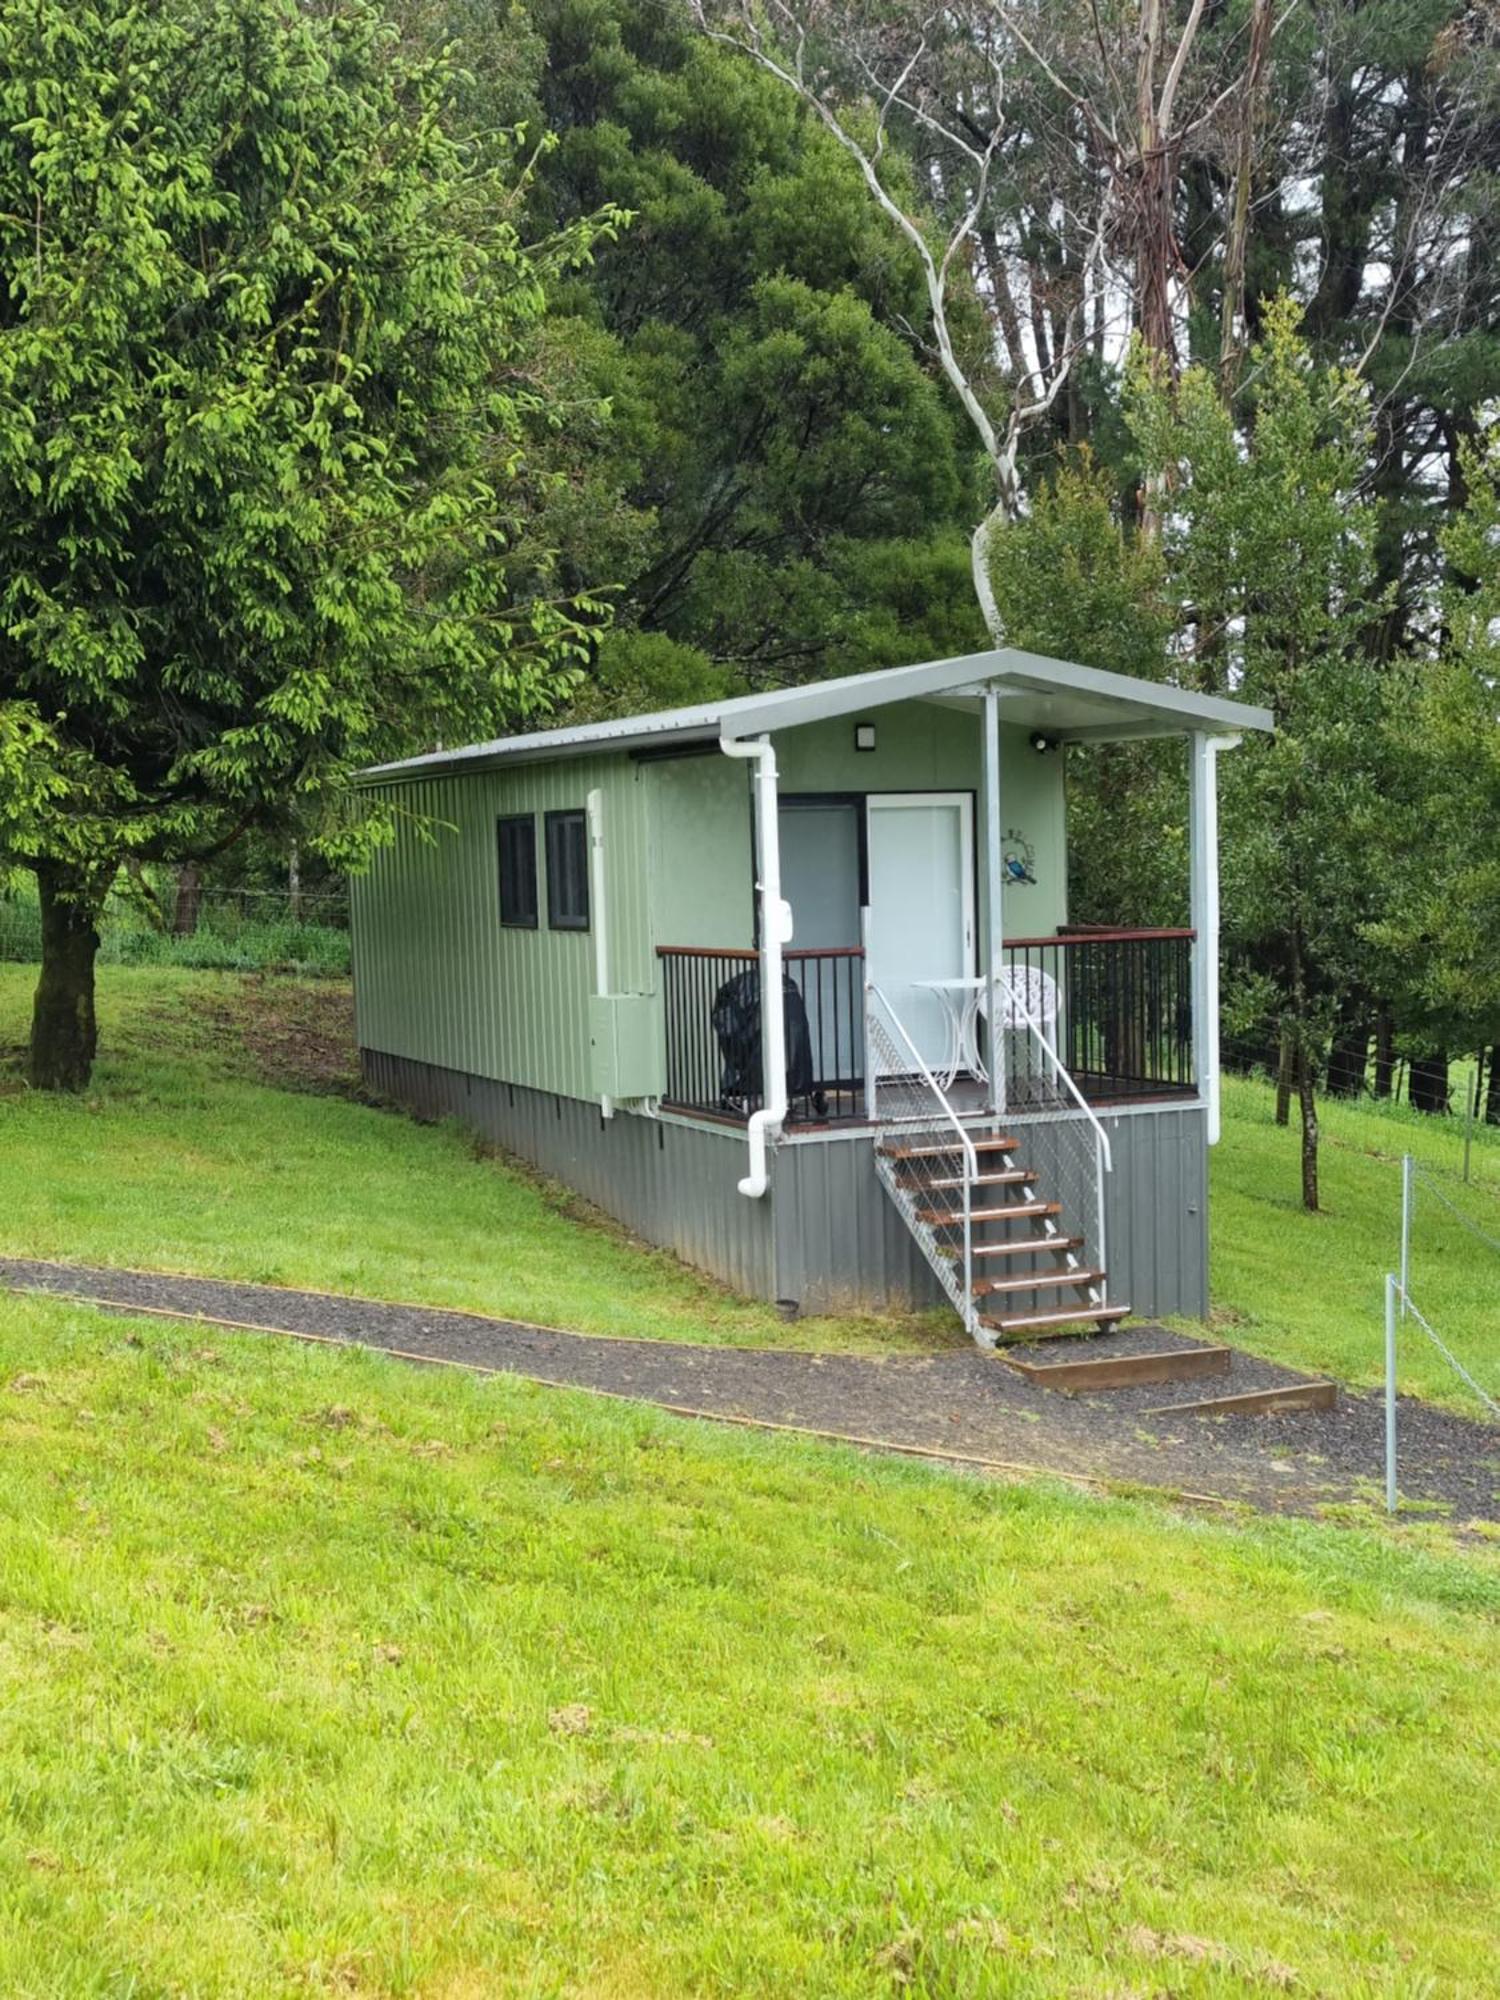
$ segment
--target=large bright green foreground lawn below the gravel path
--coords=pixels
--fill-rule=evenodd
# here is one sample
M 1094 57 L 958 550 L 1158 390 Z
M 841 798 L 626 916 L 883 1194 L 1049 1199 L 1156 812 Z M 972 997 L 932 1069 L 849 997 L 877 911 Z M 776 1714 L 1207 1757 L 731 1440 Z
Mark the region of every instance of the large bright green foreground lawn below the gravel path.
M 1500 1566 L 0 1300 L 0 1992 L 1494 1994 Z

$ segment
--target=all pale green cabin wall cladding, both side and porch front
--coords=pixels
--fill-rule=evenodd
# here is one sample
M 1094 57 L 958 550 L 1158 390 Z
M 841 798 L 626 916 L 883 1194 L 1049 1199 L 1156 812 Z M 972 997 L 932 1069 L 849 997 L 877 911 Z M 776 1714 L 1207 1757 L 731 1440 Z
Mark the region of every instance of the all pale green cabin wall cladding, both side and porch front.
M 784 792 L 970 790 L 980 722 L 932 702 L 782 730 Z M 1002 736 L 1002 816 L 1036 850 L 1036 888 L 1006 892 L 1006 932 L 1050 932 L 1068 914 L 1062 758 Z M 656 944 L 744 948 L 754 938 L 750 766 L 718 756 L 560 758 L 392 786 L 396 844 L 354 882 L 354 980 L 362 1048 L 590 1098 L 592 932 L 546 928 L 540 814 L 604 792 L 610 988 L 660 992 Z M 980 798 L 982 804 L 982 798 Z M 536 930 L 500 926 L 496 818 L 538 814 Z M 982 840 L 982 812 L 976 812 Z M 982 870 L 980 870 L 982 876 Z

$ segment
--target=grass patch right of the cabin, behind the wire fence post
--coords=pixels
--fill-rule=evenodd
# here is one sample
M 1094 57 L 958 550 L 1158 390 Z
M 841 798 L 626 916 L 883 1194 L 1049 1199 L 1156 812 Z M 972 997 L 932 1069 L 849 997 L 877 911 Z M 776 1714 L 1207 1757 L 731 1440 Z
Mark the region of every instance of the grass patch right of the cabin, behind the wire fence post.
M 1320 1106 L 1322 1212 L 1300 1204 L 1296 1112 L 1276 1092 L 1224 1080 L 1224 1138 L 1212 1168 L 1212 1292 L 1228 1338 L 1294 1368 L 1374 1386 L 1384 1378 L 1384 1274 L 1400 1244 L 1400 1156 L 1416 1156 L 1412 1298 L 1476 1380 L 1500 1396 L 1500 1252 L 1456 1222 L 1436 1186 L 1500 1240 L 1500 1134 L 1480 1128 L 1462 1180 L 1464 1124 L 1378 1104 Z M 1470 1416 L 1478 1400 L 1426 1336 L 1400 1340 L 1400 1386 Z

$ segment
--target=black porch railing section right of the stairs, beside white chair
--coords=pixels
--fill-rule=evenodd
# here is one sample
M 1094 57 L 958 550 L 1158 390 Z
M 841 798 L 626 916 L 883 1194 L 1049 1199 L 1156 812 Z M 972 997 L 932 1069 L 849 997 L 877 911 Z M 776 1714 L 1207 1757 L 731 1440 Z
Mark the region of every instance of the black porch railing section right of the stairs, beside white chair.
M 1192 944 L 1192 930 L 1006 938 L 1012 990 L 1040 1018 L 1090 1104 L 1196 1088 Z M 1014 1014 L 1008 1020 L 1014 1030 Z M 1030 1084 L 1044 1086 L 1046 1058 L 1034 1036 L 1012 1032 L 1006 1064 L 1008 1102 L 1024 1102 Z

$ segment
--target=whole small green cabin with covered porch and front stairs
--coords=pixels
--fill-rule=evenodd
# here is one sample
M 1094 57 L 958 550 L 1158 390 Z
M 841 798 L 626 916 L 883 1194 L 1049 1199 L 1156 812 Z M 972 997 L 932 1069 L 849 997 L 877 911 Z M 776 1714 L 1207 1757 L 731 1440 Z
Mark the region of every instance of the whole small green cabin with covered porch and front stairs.
M 364 1074 L 788 1312 L 1202 1314 L 1214 770 L 1268 726 L 1002 648 L 366 772 Z M 1136 736 L 1192 922 L 1072 928 L 1062 750 Z

